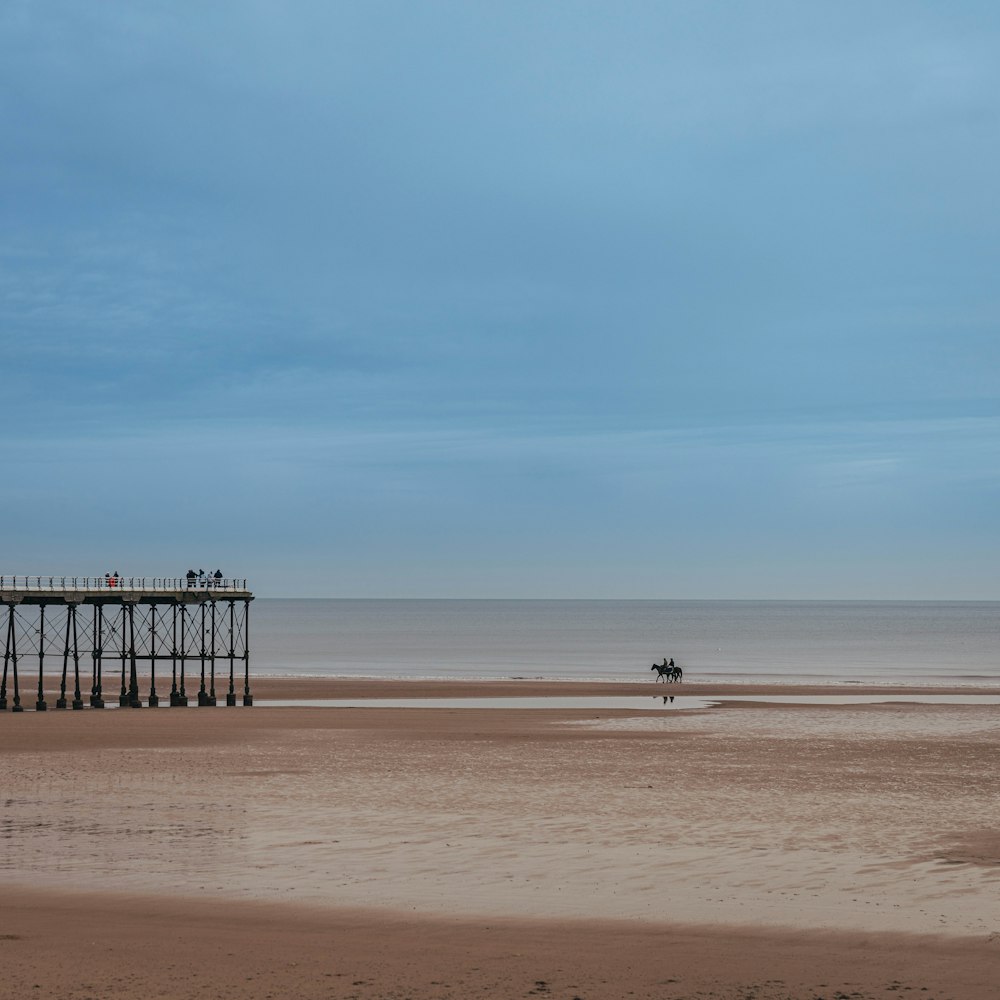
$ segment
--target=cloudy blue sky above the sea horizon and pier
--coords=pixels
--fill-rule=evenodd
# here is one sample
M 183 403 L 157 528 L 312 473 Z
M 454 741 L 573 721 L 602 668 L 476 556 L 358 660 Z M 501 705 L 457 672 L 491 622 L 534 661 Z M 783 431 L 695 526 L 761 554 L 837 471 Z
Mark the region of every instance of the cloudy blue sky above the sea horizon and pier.
M 0 572 L 1000 599 L 1000 8 L 5 0 Z

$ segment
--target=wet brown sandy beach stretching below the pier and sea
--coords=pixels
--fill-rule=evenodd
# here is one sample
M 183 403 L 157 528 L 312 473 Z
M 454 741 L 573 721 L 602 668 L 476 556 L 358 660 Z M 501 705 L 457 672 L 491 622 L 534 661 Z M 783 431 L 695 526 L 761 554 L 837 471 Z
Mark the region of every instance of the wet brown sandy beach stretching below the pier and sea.
M 995 997 L 1000 710 L 753 701 L 807 690 L 4 713 L 0 996 Z

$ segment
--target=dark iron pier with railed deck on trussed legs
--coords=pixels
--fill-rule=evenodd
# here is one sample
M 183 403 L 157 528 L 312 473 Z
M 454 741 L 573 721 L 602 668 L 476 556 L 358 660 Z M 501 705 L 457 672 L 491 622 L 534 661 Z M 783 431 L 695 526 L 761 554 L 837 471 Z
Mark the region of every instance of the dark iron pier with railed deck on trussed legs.
M 197 703 L 215 705 L 216 676 L 221 673 L 224 683 L 227 665 L 226 704 L 236 704 L 242 677 L 243 704 L 252 705 L 252 600 L 246 580 L 215 577 L 0 576 L 0 628 L 6 636 L 0 710 L 8 707 L 9 681 L 10 708 L 24 711 L 21 680 L 27 664 L 31 686 L 37 666 L 39 712 L 49 708 L 46 669 L 60 672 L 57 709 L 104 708 L 108 687 L 120 688 L 119 706 L 142 708 L 139 664 L 143 678 L 148 675 L 150 708 L 160 705 L 158 672 L 166 687 L 168 671 L 171 707 L 188 704 L 188 685 L 196 681 Z

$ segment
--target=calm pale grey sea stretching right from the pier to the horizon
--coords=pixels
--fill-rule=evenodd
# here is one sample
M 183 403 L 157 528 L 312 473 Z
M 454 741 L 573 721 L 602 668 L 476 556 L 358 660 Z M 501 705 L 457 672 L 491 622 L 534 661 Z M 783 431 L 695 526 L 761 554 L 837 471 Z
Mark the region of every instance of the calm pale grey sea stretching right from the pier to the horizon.
M 258 675 L 1000 683 L 1000 602 L 259 599 Z

